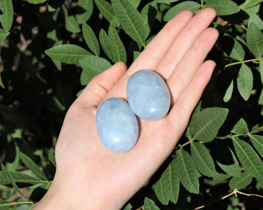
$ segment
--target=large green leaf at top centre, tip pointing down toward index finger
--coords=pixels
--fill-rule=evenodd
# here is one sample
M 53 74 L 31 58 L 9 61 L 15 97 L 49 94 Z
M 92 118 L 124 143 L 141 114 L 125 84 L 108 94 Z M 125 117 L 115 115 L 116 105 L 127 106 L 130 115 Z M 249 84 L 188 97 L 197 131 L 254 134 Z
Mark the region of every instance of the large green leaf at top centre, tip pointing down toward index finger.
M 113 9 L 123 30 L 135 40 L 139 46 L 145 47 L 146 32 L 141 14 L 128 0 L 112 0 Z

